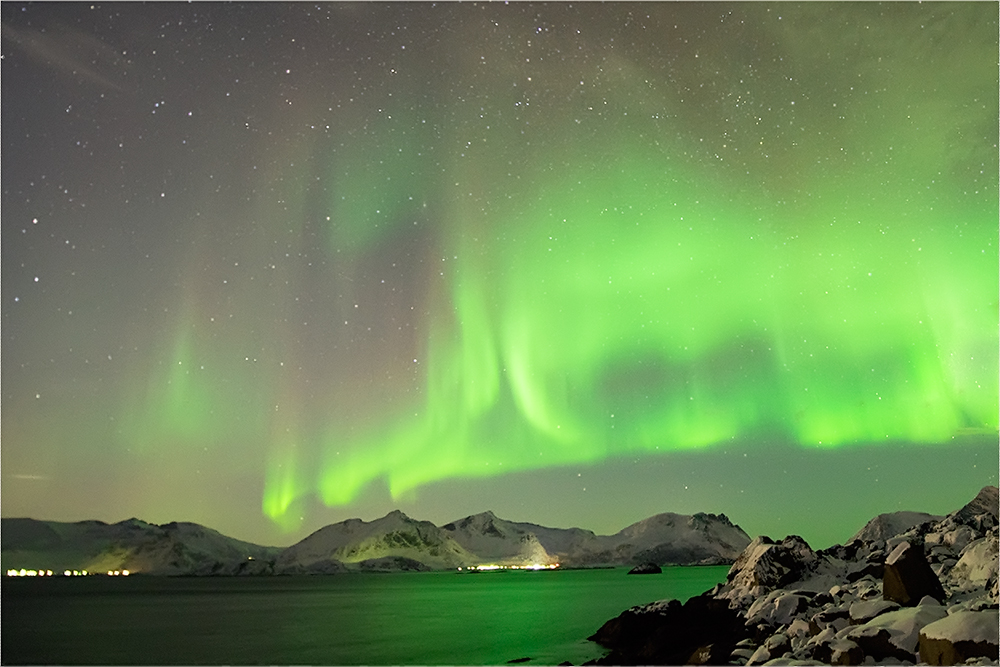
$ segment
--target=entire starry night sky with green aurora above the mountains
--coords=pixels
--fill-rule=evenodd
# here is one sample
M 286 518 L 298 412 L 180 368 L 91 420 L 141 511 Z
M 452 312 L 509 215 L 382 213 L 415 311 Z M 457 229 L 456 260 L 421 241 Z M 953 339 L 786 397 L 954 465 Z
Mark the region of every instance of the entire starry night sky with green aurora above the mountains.
M 2 512 L 846 541 L 998 476 L 996 3 L 2 12 Z

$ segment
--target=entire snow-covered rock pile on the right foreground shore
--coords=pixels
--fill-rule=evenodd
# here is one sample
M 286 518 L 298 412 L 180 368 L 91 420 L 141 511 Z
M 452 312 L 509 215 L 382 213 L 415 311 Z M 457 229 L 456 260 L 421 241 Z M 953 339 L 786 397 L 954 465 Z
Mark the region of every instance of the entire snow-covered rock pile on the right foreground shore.
M 997 505 L 986 487 L 946 517 L 883 515 L 822 551 L 758 537 L 725 583 L 605 623 L 598 662 L 997 665 Z

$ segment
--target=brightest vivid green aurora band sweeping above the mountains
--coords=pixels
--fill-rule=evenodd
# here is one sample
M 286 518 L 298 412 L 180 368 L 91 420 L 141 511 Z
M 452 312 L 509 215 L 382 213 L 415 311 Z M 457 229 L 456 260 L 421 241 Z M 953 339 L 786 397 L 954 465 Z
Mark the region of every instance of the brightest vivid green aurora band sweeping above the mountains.
M 367 441 L 331 428 L 316 479 L 282 461 L 269 515 L 313 488 L 350 503 L 380 477 L 399 497 L 752 434 L 836 446 L 996 429 L 992 211 L 937 231 L 930 213 L 899 224 L 898 202 L 843 202 L 788 236 L 632 176 L 652 160 L 621 165 L 553 187 L 500 237 L 456 224 L 424 405 Z

